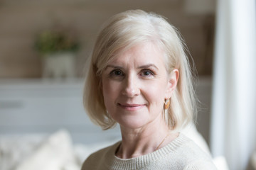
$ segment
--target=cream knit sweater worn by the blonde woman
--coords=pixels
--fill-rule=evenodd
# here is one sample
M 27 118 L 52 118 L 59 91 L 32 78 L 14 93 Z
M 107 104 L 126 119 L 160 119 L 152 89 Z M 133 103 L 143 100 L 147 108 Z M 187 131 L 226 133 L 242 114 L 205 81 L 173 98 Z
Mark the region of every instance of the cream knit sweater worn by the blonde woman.
M 208 154 L 182 133 L 165 147 L 132 159 L 119 159 L 114 156 L 119 145 L 120 142 L 117 142 L 91 154 L 82 165 L 82 170 L 217 169 Z

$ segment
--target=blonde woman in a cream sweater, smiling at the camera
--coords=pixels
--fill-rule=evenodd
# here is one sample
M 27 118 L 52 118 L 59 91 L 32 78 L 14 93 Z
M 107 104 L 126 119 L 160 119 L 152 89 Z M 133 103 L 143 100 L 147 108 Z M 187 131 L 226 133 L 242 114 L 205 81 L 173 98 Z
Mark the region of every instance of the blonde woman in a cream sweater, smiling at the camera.
M 82 169 L 215 169 L 180 130 L 193 120 L 191 71 L 177 31 L 141 10 L 110 18 L 97 37 L 84 91 L 91 120 L 119 123 L 122 141 Z

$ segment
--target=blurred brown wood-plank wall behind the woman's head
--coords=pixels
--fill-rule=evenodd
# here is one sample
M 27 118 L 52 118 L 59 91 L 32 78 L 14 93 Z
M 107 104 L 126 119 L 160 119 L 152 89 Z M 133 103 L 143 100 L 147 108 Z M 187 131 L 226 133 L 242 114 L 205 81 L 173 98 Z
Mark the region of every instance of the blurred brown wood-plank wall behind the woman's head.
M 207 6 L 207 8 L 203 7 Z M 38 34 L 63 31 L 78 41 L 80 49 L 76 75 L 82 76 L 87 55 L 102 23 L 110 16 L 128 9 L 141 8 L 169 18 L 181 31 L 198 73 L 212 73 L 215 1 L 4 1 L 0 4 L 1 78 L 39 78 L 42 61 L 35 49 Z

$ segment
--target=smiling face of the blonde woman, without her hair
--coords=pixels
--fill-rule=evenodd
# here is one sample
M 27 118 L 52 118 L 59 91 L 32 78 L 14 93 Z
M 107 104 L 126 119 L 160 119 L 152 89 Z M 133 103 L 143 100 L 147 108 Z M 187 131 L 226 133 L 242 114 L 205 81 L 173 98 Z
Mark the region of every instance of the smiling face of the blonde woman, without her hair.
M 162 118 L 164 99 L 174 86 L 166 72 L 164 52 L 146 42 L 117 55 L 102 72 L 108 113 L 119 125 L 142 128 Z

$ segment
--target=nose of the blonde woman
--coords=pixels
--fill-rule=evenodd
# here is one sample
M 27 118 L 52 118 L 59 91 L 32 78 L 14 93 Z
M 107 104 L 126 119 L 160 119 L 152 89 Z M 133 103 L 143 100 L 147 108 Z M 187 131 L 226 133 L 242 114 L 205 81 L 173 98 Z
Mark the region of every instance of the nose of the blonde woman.
M 136 75 L 129 75 L 124 80 L 124 87 L 122 90 L 122 94 L 129 98 L 138 96 L 140 94 L 139 81 L 138 81 Z

